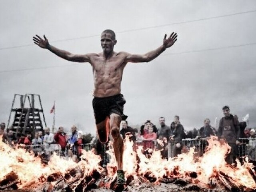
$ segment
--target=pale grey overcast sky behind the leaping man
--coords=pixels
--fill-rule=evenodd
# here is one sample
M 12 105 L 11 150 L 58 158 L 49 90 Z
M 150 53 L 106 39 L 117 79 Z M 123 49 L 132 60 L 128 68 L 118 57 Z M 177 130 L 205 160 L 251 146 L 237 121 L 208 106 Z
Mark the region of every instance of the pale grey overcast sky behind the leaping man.
M 222 117 L 222 106 L 229 105 L 240 120 L 249 113 L 250 126 L 256 126 L 255 0 L 0 4 L 1 122 L 8 121 L 14 94 L 34 93 L 41 96 L 49 127 L 56 100 L 57 127 L 80 124 L 84 132 L 95 133 L 90 64 L 58 58 L 33 45 L 32 37 L 45 34 L 50 44 L 72 53 L 98 53 L 100 33 L 112 29 L 118 41 L 114 50 L 137 54 L 158 48 L 165 33 L 178 33 L 176 44 L 155 60 L 127 64 L 122 94 L 130 124 L 152 120 L 158 126 L 158 118 L 164 116 L 169 125 L 177 114 L 188 129 L 199 128 L 206 117 L 214 126 L 215 117 Z M 21 47 L 10 48 L 16 46 Z M 19 69 L 33 70 L 14 71 Z

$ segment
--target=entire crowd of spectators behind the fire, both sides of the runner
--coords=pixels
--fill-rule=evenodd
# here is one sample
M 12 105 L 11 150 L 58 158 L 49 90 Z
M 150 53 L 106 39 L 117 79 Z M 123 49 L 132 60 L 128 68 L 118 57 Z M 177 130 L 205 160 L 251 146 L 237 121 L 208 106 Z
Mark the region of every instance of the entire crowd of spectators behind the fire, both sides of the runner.
M 228 163 L 234 163 L 236 157 L 244 156 L 245 152 L 241 152 L 241 150 L 245 148 L 250 160 L 256 161 L 256 131 L 246 127 L 246 119 L 238 122 L 238 117 L 230 114 L 228 106 L 224 106 L 222 110 L 224 117 L 220 119 L 218 128 L 212 127 L 210 119 L 205 118 L 201 128 L 186 131 L 182 126 L 180 117 L 176 115 L 170 126 L 166 125 L 164 117 L 160 117 L 160 126 L 158 128 L 150 120 L 147 120 L 139 130 L 130 127 L 128 122 L 124 120 L 120 125 L 120 135 L 122 135 L 123 139 L 128 136 L 134 142 L 134 150 L 137 150 L 138 146 L 142 146 L 145 155 L 149 155 L 153 150 L 160 150 L 162 158 L 166 159 L 176 157 L 178 154 L 185 152 L 186 148 L 191 147 L 191 142 L 188 142 L 190 140 L 204 141 L 197 144 L 193 143 L 199 149 L 198 155 L 202 156 L 210 136 L 218 136 L 220 142 L 227 142 L 231 146 L 232 150 L 226 159 Z M 60 155 L 71 157 L 75 161 L 79 160 L 84 148 L 83 144 L 88 144 L 88 141 L 84 139 L 83 132 L 78 131 L 76 126 L 71 127 L 70 135 L 64 132 L 62 126 L 54 134 L 50 132 L 50 128 L 36 131 L 34 135 L 31 133 L 16 133 L 12 130 L 5 132 L 4 130 L 5 124 L 2 123 L 0 124 L 0 135 L 2 135 L 2 140 L 6 143 L 28 146 L 42 145 L 45 151 L 53 151 L 52 144 L 58 144 L 60 146 Z M 102 156 L 102 163 L 104 163 L 108 145 L 101 144 L 97 138 L 92 144 L 95 153 Z

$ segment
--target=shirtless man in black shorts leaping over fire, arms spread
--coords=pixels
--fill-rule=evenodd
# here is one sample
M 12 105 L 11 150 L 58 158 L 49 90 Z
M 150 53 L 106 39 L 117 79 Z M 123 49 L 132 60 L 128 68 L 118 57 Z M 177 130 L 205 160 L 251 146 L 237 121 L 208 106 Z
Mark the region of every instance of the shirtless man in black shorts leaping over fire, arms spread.
M 125 184 L 123 172 L 123 150 L 124 143 L 120 136 L 120 122 L 127 116 L 123 114 L 126 100 L 121 94 L 121 81 L 124 67 L 128 62 L 150 62 L 158 57 L 166 48 L 172 46 L 177 40 L 177 34 L 172 34 L 166 38 L 164 36 L 163 44 L 156 50 L 143 55 L 129 54 L 126 52 L 114 52 L 116 45 L 116 35 L 112 30 L 104 30 L 100 36 L 100 42 L 103 52 L 89 54 L 72 54 L 60 50 L 49 44 L 46 36 L 41 38 L 36 35 L 33 37 L 34 43 L 41 48 L 48 49 L 57 56 L 73 62 L 88 62 L 92 66 L 94 76 L 94 99 L 92 106 L 98 138 L 100 142 L 106 143 L 108 135 L 113 137 L 113 147 L 118 166 L 117 184 Z

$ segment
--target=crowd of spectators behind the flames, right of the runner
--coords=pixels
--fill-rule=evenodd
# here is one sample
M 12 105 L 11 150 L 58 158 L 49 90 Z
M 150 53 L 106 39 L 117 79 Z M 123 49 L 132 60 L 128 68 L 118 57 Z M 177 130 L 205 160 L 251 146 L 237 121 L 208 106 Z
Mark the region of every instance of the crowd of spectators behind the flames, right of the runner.
M 255 129 L 246 128 L 247 119 L 238 122 L 238 117 L 230 114 L 228 106 L 224 106 L 222 110 L 224 117 L 220 119 L 217 128 L 210 125 L 209 118 L 205 118 L 201 128 L 186 131 L 180 122 L 180 117 L 176 115 L 170 126 L 165 124 L 164 117 L 160 117 L 159 128 L 147 120 L 139 131 L 128 127 L 127 121 L 122 121 L 120 133 L 123 138 L 127 133 L 135 137 L 136 146 L 143 146 L 145 154 L 148 154 L 148 151 L 160 150 L 162 158 L 173 158 L 186 151 L 192 146 L 191 142 L 188 142 L 191 140 L 198 141 L 193 142 L 193 145 L 198 150 L 198 156 L 202 156 L 210 136 L 218 136 L 221 142 L 227 142 L 231 146 L 231 152 L 226 158 L 228 163 L 235 163 L 235 158 L 244 156 L 245 153 L 250 160 L 256 161 Z

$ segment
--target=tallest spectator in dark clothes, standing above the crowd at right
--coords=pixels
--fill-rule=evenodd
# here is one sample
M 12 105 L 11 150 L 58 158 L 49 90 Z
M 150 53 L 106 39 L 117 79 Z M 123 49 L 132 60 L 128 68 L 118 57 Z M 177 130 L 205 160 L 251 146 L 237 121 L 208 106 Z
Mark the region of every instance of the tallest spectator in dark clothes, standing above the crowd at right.
M 238 154 L 237 145 L 240 144 L 238 141 L 240 136 L 239 122 L 237 116 L 230 114 L 228 106 L 224 106 L 222 112 L 224 117 L 220 119 L 218 137 L 221 142 L 226 141 L 231 147 L 231 151 L 226 157 L 226 162 L 232 164 L 236 163 L 236 154 Z

